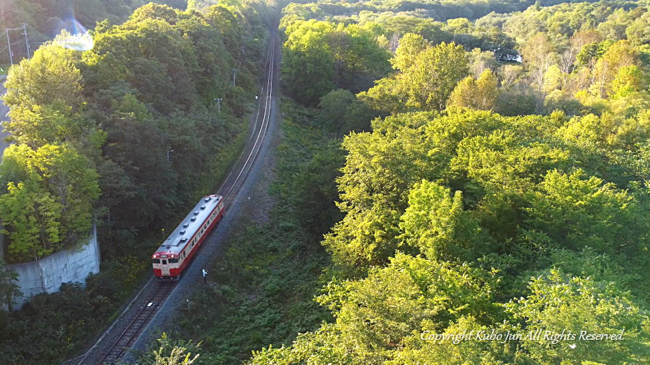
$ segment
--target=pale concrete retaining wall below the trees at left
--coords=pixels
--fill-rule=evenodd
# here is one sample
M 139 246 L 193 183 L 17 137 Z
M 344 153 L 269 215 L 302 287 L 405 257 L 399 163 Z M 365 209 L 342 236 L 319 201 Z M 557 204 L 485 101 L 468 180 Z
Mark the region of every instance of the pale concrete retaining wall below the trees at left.
M 77 250 L 67 249 L 38 261 L 5 265 L 5 269 L 18 273 L 16 284 L 23 292 L 13 308 L 21 308 L 34 295 L 55 293 L 65 282 L 86 283 L 88 274 L 99 273 L 99 260 L 97 229 L 93 227 L 88 244 Z

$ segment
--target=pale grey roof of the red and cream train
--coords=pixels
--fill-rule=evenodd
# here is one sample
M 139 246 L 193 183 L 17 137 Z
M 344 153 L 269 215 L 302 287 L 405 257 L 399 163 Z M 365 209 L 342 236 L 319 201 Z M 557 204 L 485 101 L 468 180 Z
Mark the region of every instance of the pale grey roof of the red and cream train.
M 223 198 L 220 195 L 206 195 L 194 206 L 190 214 L 181 221 L 181 224 L 170 234 L 163 244 L 158 247 L 154 255 L 174 255 L 177 256 L 185 248 L 192 236 L 198 231 L 204 221 L 207 220 L 210 213 L 221 202 Z

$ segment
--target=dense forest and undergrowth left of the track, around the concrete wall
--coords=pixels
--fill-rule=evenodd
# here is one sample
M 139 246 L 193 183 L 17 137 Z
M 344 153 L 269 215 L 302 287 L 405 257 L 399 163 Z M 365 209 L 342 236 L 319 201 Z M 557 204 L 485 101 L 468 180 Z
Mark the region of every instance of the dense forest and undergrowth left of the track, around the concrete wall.
M 61 46 L 62 33 L 10 68 L 3 127 L 12 144 L 0 164 L 5 260 L 79 247 L 96 224 L 103 262 L 86 290 L 66 284 L 21 311 L 0 311 L 0 363 L 58 363 L 78 351 L 151 271 L 161 229 L 214 189 L 241 148 L 268 12 L 257 1 L 201 10 L 148 3 L 125 10 L 123 23 L 98 10 L 88 15 L 97 20 L 92 49 Z M 59 14 L 29 16 L 45 13 Z M 15 294 L 11 278 L 0 278 L 3 303 Z

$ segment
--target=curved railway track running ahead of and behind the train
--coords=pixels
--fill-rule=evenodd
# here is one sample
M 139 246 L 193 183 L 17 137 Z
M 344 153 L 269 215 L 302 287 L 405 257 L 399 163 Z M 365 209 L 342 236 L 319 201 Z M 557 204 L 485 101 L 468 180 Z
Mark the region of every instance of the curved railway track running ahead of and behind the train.
M 268 59 L 266 62 L 266 85 L 262 89 L 262 95 L 259 98 L 259 105 L 257 109 L 257 115 L 255 116 L 255 124 L 252 128 L 252 133 L 248 138 L 247 146 L 244 148 L 242 154 L 239 155 L 239 159 L 235 164 L 235 167 L 231 170 L 231 173 L 226 177 L 224 183 L 216 191 L 218 195 L 224 197 L 224 214 L 228 212 L 228 207 L 235 200 L 235 196 L 242 189 L 246 177 L 250 174 L 252 167 L 257 159 L 257 156 L 262 148 L 262 144 L 265 141 L 265 136 L 269 128 L 269 123 L 271 119 L 271 107 L 272 107 L 272 97 L 273 97 L 273 77 L 275 73 L 275 58 L 276 58 L 276 48 L 277 48 L 277 39 L 276 32 L 272 31 L 270 36 L 270 46 L 268 51 Z M 190 264 L 191 265 L 191 264 Z M 130 320 L 129 325 L 122 331 L 122 334 L 116 338 L 116 340 L 106 340 L 102 343 L 103 338 L 107 336 L 108 332 L 112 328 L 109 328 L 107 332 L 94 344 L 94 346 L 81 357 L 79 362 L 76 362 L 77 359 L 74 359 L 75 362 L 70 360 L 66 364 L 77 364 L 77 365 L 86 365 L 86 364 L 117 364 L 120 359 L 125 355 L 125 353 L 131 348 L 131 345 L 138 339 L 138 336 L 144 332 L 146 326 L 149 322 L 155 317 L 155 314 L 162 306 L 163 303 L 170 296 L 174 288 L 176 287 L 177 282 L 155 282 L 152 277 L 149 280 L 144 288 L 140 290 L 140 293 L 135 296 L 129 308 L 133 306 L 134 303 L 138 303 L 140 310 L 133 316 Z M 182 279 L 182 277 L 181 277 Z M 153 289 L 151 289 L 153 287 Z M 147 289 L 147 290 L 145 290 Z M 146 297 L 146 299 L 142 299 Z M 120 318 L 117 321 L 127 322 L 125 319 L 125 314 L 129 312 L 129 308 L 122 312 Z M 131 312 L 132 313 L 132 312 Z M 95 355 L 95 358 L 101 357 L 99 362 L 95 362 L 90 357 L 90 353 L 96 351 L 99 355 Z

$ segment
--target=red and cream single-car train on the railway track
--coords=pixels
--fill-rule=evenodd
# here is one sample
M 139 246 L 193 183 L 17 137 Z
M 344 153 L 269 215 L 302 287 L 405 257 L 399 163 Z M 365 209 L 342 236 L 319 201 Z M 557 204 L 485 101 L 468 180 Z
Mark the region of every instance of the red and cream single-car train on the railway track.
M 178 280 L 223 213 L 223 197 L 220 195 L 203 197 L 151 255 L 153 275 L 159 280 Z

